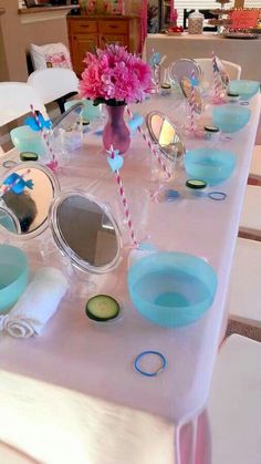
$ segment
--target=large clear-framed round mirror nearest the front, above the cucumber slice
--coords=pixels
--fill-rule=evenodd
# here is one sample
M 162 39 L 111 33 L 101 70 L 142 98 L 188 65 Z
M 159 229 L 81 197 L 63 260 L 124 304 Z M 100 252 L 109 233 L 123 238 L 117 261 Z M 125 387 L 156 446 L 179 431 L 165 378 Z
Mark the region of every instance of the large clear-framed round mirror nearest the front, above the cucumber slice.
M 59 195 L 50 208 L 56 245 L 79 269 L 104 274 L 116 267 L 121 236 L 109 209 L 84 192 Z

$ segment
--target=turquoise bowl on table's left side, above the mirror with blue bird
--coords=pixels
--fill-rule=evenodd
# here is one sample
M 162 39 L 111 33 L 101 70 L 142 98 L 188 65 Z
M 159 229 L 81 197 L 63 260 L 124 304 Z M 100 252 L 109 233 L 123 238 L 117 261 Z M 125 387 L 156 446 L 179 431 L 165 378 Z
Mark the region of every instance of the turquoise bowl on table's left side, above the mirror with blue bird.
M 11 141 L 19 153 L 32 152 L 39 156 L 45 154 L 41 135 L 32 131 L 28 125 L 15 127 L 10 132 Z

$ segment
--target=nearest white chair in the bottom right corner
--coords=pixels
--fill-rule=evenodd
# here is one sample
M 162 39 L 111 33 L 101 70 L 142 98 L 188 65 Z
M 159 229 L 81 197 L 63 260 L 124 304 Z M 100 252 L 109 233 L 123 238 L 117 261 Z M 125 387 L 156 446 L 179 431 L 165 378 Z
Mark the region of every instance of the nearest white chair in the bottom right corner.
M 211 464 L 261 462 L 261 344 L 232 334 L 213 371 L 208 414 Z

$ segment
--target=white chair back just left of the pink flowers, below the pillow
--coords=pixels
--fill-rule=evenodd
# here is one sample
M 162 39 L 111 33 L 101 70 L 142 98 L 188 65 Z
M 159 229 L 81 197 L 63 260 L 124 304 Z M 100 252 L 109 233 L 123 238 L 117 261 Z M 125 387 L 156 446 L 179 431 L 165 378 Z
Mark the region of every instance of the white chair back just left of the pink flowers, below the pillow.
M 28 78 L 28 83 L 44 104 L 56 101 L 61 113 L 64 112 L 65 101 L 79 91 L 79 79 L 75 72 L 63 68 L 34 71 Z

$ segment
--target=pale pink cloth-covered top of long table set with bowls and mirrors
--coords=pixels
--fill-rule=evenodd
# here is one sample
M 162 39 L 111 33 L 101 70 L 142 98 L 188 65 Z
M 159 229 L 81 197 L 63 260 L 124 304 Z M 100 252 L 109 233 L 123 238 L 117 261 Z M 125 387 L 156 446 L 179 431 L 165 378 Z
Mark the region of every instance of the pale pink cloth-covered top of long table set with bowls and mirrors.
M 173 118 L 179 117 L 180 107 L 169 96 L 153 96 L 134 110 L 146 114 L 155 107 Z M 250 103 L 250 123 L 231 134 L 230 141 L 218 142 L 219 148 L 231 149 L 237 155 L 233 175 L 218 186 L 228 195 L 227 199 L 185 197 L 176 203 L 152 202 L 146 230 L 139 235 L 139 238 L 149 235 L 149 240 L 160 250 L 192 254 L 207 259 L 215 268 L 218 289 L 207 313 L 196 323 L 178 329 L 161 328 L 144 319 L 128 298 L 129 248 L 125 248 L 115 271 L 91 277 L 97 292 L 124 302 L 124 317 L 118 323 L 103 328 L 91 323 L 84 313 L 88 287 L 74 280 L 74 291 L 71 289 L 64 298 L 41 337 L 15 340 L 0 334 L 1 370 L 64 386 L 107 404 L 155 414 L 174 424 L 190 420 L 205 408 L 226 320 L 230 269 L 260 107 L 261 99 L 257 95 Z M 203 142 L 190 137 L 187 144 L 200 146 Z M 118 200 L 115 178 L 107 171 L 101 146 L 100 136 L 86 135 L 84 146 L 64 166 L 60 182 L 62 188 L 85 188 L 114 208 Z M 156 188 L 150 178 L 150 159 L 147 145 L 136 134 L 122 169 L 124 184 Z M 185 181 L 186 173 L 179 166 L 170 185 L 184 188 Z M 48 258 L 42 261 L 39 251 L 41 240 L 50 241 L 49 230 L 43 238 L 23 244 L 32 269 L 48 264 Z M 52 264 L 53 256 L 50 254 Z M 163 352 L 168 362 L 166 371 L 154 379 L 144 378 L 133 369 L 135 357 L 148 349 Z

